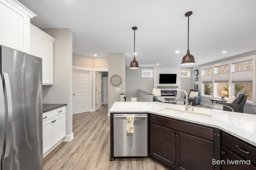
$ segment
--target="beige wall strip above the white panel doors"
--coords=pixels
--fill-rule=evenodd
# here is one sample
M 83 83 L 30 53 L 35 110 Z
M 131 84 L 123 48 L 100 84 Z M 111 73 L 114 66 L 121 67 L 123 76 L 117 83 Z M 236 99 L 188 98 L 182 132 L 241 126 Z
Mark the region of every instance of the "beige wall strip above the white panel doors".
M 108 58 L 88 57 L 84 55 L 73 54 L 73 66 L 86 68 L 108 68 Z

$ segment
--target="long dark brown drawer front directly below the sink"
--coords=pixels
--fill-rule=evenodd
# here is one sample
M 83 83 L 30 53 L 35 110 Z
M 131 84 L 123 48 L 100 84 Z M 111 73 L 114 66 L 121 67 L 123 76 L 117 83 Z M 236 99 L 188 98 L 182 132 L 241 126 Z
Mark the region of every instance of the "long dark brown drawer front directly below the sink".
M 152 114 L 150 115 L 150 122 L 170 129 L 178 130 L 180 132 L 188 133 L 196 137 L 214 141 L 214 129 L 208 127 L 176 121 L 167 117 L 160 117 Z

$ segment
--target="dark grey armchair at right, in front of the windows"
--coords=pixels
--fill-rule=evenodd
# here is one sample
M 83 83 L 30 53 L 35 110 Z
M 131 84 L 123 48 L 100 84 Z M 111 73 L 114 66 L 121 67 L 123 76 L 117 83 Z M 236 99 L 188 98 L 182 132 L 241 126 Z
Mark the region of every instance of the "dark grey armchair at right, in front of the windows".
M 231 107 L 235 112 L 240 112 L 243 113 L 244 112 L 244 105 L 247 99 L 247 95 L 243 94 L 243 93 L 238 93 L 236 95 L 236 100 L 233 103 L 226 103 L 226 102 L 222 102 L 222 101 L 217 101 L 216 103 L 218 104 L 223 104 L 226 106 Z M 226 111 L 232 111 L 230 108 L 228 107 L 223 107 L 223 110 Z

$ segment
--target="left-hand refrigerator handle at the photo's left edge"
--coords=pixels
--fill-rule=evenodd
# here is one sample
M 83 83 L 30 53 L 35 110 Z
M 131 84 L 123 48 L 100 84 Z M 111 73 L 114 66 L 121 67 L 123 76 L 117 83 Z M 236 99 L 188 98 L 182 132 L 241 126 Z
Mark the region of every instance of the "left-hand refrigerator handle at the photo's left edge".
M 4 129 L 5 129 L 5 107 L 4 107 L 4 89 L 2 78 L 0 78 L 0 155 L 4 149 Z

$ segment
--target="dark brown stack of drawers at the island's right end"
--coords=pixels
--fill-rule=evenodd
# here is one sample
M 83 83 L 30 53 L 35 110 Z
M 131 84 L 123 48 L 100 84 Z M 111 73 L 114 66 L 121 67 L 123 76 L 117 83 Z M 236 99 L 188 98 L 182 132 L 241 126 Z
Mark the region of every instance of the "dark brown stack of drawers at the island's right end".
M 256 148 L 226 133 L 221 134 L 222 170 L 256 170 Z

